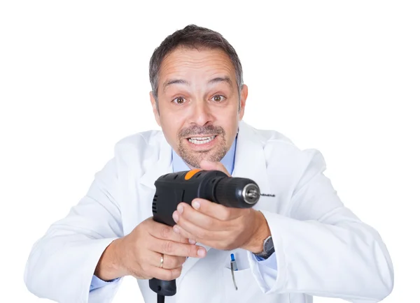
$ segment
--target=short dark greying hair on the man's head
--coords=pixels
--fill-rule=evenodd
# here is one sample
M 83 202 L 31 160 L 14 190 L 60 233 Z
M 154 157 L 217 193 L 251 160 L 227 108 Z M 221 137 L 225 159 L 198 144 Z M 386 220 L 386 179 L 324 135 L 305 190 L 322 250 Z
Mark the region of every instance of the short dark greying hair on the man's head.
M 241 61 L 237 55 L 235 49 L 228 43 L 228 40 L 223 38 L 221 34 L 211 29 L 206 29 L 204 27 L 198 27 L 195 24 L 190 24 L 183 29 L 175 31 L 174 34 L 167 36 L 165 40 L 156 47 L 155 51 L 152 54 L 151 61 L 149 63 L 149 78 L 152 86 L 153 98 L 155 98 L 156 103 L 158 103 L 158 84 L 159 84 L 159 71 L 160 66 L 162 65 L 163 59 L 176 49 L 176 47 L 188 47 L 196 48 L 207 48 L 210 50 L 220 49 L 223 50 L 232 61 L 233 66 L 235 67 L 235 75 L 237 80 L 237 87 L 240 100 L 240 91 L 244 84 L 243 75 L 242 75 L 242 66 Z M 158 104 L 156 104 L 158 105 Z M 239 102 L 239 108 L 240 108 Z

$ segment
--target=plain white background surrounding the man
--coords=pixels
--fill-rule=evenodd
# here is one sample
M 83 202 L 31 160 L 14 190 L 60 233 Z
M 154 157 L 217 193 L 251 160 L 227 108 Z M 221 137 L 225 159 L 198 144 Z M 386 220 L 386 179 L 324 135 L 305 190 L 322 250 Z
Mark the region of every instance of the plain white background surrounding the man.
M 379 230 L 395 269 L 384 302 L 419 302 L 417 2 L 2 1 L 0 301 L 48 302 L 23 282 L 32 244 L 120 138 L 158 129 L 148 61 L 195 23 L 237 50 L 244 120 L 319 149 L 345 205 Z M 114 302 L 142 302 L 133 278 Z

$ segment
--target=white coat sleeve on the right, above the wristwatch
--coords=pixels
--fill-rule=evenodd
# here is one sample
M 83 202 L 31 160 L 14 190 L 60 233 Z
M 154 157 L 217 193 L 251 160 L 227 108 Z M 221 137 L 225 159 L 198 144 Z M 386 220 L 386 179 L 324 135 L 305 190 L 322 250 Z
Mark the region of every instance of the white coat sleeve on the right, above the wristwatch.
M 248 260 L 264 293 L 306 293 L 353 303 L 379 302 L 393 289 L 393 265 L 378 232 L 344 207 L 311 151 L 287 216 L 261 211 L 272 233 L 276 266 Z

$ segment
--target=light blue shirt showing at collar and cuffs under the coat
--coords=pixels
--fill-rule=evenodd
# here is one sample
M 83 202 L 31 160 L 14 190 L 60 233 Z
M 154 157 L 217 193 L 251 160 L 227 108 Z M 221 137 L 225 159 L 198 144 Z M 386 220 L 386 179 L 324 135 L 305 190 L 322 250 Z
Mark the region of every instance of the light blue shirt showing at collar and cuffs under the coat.
M 230 175 L 232 175 L 233 169 L 235 168 L 236 143 L 237 143 L 237 138 L 235 138 L 235 141 L 233 142 L 232 147 L 230 147 L 229 151 L 225 154 L 225 156 L 221 160 L 221 163 L 225 166 L 226 170 L 228 170 Z M 172 170 L 174 172 L 183 172 L 185 170 L 190 170 L 188 165 L 183 161 L 183 159 L 180 156 L 178 156 L 178 154 L 176 154 L 174 149 L 172 149 Z M 273 253 L 272 256 L 270 256 L 271 258 L 268 258 L 267 260 L 257 257 L 257 256 L 255 256 L 255 258 L 257 258 L 258 261 L 264 261 L 266 265 L 275 266 L 275 263 L 272 264 L 273 263 L 272 260 L 273 259 L 275 260 L 274 254 L 275 253 Z M 102 279 L 99 279 L 97 276 L 93 276 L 92 281 L 90 282 L 90 291 L 106 286 L 109 283 L 116 282 L 119 279 L 120 278 L 117 278 L 111 281 L 103 281 Z

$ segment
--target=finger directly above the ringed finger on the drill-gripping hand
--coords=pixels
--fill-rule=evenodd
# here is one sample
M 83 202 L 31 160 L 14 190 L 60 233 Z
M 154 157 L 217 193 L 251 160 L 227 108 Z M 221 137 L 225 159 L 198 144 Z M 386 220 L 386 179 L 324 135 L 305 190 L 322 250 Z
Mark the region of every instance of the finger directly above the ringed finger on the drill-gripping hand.
M 179 242 L 158 239 L 151 245 L 153 245 L 153 247 L 150 248 L 152 251 L 169 256 L 203 258 L 207 254 L 204 247 L 194 244 L 182 244 Z

